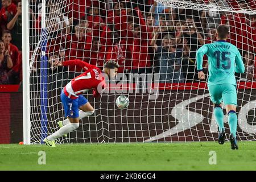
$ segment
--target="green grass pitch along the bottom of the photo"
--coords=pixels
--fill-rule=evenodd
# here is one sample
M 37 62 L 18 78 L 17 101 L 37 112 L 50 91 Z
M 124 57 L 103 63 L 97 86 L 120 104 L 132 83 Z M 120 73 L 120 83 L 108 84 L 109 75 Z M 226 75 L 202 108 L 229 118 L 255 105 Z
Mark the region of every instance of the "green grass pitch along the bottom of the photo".
M 256 142 L 0 144 L 0 170 L 255 170 Z M 46 164 L 39 165 L 39 151 Z M 209 164 L 210 151 L 217 164 Z

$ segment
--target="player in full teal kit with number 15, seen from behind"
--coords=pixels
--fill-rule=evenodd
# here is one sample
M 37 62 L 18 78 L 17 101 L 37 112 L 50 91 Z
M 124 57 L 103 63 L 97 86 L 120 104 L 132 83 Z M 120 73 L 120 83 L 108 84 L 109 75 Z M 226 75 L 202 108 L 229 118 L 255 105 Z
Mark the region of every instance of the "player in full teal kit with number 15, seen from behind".
M 209 77 L 208 88 L 210 100 L 214 104 L 214 117 L 218 123 L 220 135 L 218 143 L 225 142 L 224 129 L 224 113 L 221 108 L 221 102 L 224 101 L 226 112 L 228 113 L 228 121 L 230 127 L 230 143 L 232 150 L 238 149 L 236 140 L 237 131 L 237 92 L 236 78 L 234 72 L 243 73 L 245 66 L 243 65 L 242 57 L 236 46 L 226 42 L 229 35 L 229 28 L 225 25 L 217 27 L 217 41 L 211 44 L 205 44 L 197 50 L 196 61 L 199 79 L 205 79 L 203 72 L 203 56 L 208 56 L 209 62 Z

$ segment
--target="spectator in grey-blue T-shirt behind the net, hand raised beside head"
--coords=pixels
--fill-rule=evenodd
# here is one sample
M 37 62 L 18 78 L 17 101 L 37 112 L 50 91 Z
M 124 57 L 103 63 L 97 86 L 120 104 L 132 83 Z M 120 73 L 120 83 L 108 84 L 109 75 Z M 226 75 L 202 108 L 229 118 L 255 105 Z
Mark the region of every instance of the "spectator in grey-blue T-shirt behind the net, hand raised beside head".
M 168 34 L 163 37 L 162 46 L 157 46 L 155 43 L 157 36 L 158 34 L 155 34 L 152 38 L 151 46 L 154 46 L 155 52 L 158 53 L 160 82 L 184 82 L 183 73 L 181 72 L 182 49 L 175 48 L 175 38 Z

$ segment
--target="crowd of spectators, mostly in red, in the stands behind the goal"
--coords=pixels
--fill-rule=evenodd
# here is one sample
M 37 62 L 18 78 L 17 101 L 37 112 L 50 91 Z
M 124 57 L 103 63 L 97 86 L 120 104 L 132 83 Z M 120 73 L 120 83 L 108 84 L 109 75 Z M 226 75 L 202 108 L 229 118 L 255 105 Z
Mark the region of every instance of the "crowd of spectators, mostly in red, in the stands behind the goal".
M 256 9 L 254 0 L 192 0 L 235 10 Z M 54 0 L 47 2 L 47 57 L 49 73 L 67 71 L 53 67 L 55 60 L 80 59 L 103 67 L 116 60 L 120 73 L 159 74 L 160 82 L 197 81 L 196 50 L 216 40 L 218 24 L 228 24 L 228 42 L 240 49 L 246 73 L 239 79 L 256 81 L 256 15 L 231 11 L 167 7 L 133 0 Z M 41 0 L 30 0 L 30 50 L 41 34 Z M 63 6 L 63 5 L 68 6 Z M 2 0 L 0 14 L 0 84 L 22 80 L 22 3 Z M 37 53 L 40 55 L 40 52 Z M 32 56 L 32 55 L 31 55 Z M 35 57 L 35 71 L 40 56 Z M 204 69 L 207 72 L 207 57 Z M 69 71 L 81 71 L 69 67 Z

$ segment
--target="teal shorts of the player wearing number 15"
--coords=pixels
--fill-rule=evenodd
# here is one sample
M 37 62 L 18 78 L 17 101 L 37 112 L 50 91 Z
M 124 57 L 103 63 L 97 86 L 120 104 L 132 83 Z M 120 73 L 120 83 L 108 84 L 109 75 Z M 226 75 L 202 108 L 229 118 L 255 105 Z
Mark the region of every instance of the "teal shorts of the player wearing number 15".
M 237 105 L 237 90 L 236 85 L 219 84 L 208 86 L 210 93 L 210 100 L 214 104 Z

